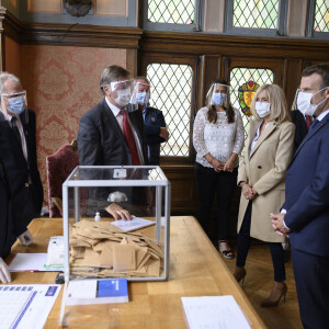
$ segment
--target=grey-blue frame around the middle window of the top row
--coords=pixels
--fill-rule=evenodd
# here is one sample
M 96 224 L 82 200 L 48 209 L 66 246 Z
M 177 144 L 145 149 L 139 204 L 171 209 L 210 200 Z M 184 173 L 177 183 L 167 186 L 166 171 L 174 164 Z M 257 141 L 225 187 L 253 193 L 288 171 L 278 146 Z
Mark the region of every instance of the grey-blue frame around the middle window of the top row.
M 252 27 L 235 27 L 234 21 L 234 1 L 226 0 L 226 19 L 225 19 L 225 33 L 231 35 L 247 35 L 247 36 L 266 36 L 280 37 L 286 35 L 286 21 L 287 21 L 287 0 L 279 0 L 279 19 L 277 29 L 252 29 Z

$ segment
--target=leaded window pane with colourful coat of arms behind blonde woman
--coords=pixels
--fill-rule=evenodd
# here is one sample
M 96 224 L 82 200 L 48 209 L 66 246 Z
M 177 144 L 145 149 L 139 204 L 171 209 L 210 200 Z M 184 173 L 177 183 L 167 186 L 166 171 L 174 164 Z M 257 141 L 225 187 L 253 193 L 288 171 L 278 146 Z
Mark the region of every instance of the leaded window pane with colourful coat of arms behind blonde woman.
M 241 111 L 245 137 L 248 137 L 250 107 L 257 86 L 273 83 L 274 73 L 265 68 L 237 67 L 230 70 L 231 103 Z

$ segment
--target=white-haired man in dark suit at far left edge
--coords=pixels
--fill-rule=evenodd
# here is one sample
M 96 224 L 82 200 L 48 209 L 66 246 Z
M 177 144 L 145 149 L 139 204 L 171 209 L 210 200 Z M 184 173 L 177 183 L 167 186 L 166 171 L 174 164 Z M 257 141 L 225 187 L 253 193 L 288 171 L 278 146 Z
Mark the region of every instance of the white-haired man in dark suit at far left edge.
M 2 258 L 19 237 L 23 246 L 33 237 L 26 228 L 38 217 L 43 186 L 37 170 L 35 114 L 26 109 L 26 95 L 20 80 L 0 75 L 0 280 L 10 281 Z

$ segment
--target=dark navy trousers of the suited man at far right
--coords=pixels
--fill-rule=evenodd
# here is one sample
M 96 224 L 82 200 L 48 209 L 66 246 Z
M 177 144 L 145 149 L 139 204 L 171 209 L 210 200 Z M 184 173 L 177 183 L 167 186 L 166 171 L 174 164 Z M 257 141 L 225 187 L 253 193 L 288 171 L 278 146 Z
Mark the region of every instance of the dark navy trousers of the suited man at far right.
M 325 329 L 329 324 L 329 258 L 292 247 L 299 313 L 305 329 Z

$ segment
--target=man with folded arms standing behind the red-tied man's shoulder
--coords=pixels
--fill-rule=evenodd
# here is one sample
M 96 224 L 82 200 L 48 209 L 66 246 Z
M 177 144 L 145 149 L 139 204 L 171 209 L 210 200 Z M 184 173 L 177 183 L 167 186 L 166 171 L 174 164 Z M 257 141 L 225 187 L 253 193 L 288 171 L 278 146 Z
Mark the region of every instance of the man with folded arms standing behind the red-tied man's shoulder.
M 160 144 L 169 138 L 162 111 L 149 105 L 150 83 L 146 77 L 135 79 L 135 88 L 132 98 L 132 109 L 137 106 L 143 113 L 147 137 L 147 151 L 149 164 L 160 164 Z

